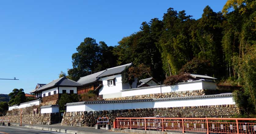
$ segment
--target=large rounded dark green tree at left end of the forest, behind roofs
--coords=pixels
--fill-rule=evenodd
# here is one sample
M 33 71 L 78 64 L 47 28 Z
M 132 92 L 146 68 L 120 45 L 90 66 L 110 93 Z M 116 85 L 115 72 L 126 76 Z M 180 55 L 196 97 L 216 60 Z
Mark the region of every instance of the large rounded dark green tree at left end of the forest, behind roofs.
M 80 77 L 116 65 L 116 58 L 112 54 L 113 47 L 108 47 L 103 41 L 99 44 L 95 39 L 87 37 L 76 48 L 77 52 L 72 55 L 73 69 L 68 70 L 69 79 L 77 81 Z

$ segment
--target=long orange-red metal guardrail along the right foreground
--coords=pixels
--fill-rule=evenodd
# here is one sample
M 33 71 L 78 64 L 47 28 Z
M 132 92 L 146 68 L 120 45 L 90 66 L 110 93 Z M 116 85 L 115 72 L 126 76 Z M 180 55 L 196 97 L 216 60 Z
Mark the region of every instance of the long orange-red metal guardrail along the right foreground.
M 114 128 L 255 134 L 256 118 L 115 118 Z

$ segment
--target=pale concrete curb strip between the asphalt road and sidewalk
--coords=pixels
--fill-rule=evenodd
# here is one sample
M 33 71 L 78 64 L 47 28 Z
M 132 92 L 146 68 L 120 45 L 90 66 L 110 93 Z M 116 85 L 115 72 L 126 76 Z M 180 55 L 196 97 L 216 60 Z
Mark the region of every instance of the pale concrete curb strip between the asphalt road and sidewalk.
M 100 134 L 100 133 L 97 133 L 97 132 L 84 132 L 84 131 L 76 131 L 76 130 L 46 128 L 46 127 L 38 127 L 38 126 L 31 126 L 31 125 L 25 125 L 24 127 L 31 128 L 31 129 L 53 131 L 53 132 L 69 133 L 69 134 Z

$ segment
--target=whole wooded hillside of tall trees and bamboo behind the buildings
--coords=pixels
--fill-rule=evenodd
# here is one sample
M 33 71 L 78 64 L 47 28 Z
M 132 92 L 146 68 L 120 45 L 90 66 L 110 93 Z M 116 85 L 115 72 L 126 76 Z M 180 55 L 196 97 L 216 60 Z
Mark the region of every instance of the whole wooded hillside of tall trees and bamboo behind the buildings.
M 202 10 L 202 17 L 193 19 L 185 10 L 169 8 L 163 19 L 142 22 L 139 31 L 116 46 L 86 37 L 72 55 L 73 68 L 67 77 L 77 81 L 131 62 L 151 72 L 138 79 L 163 81 L 182 72 L 206 74 L 223 85 L 242 86 L 236 103 L 241 111 L 256 113 L 256 1 L 228 0 L 222 11 L 208 5 Z

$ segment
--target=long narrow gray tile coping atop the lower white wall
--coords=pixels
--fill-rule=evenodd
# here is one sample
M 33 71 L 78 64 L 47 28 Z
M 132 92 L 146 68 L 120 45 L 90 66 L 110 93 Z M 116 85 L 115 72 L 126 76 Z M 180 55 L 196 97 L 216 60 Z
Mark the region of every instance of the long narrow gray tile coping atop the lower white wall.
M 120 101 L 83 101 L 75 103 L 67 103 L 69 105 L 82 105 L 82 104 L 97 104 L 97 103 L 123 103 L 123 102 L 143 102 L 143 101 L 168 101 L 168 100 L 184 100 L 184 99 L 201 99 L 201 98 L 214 98 L 214 97 L 232 97 L 232 93 L 222 93 L 214 95 L 200 95 L 190 97 L 171 97 L 171 98 L 159 98 L 159 99 L 141 99 L 141 100 L 120 100 Z

